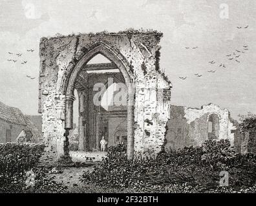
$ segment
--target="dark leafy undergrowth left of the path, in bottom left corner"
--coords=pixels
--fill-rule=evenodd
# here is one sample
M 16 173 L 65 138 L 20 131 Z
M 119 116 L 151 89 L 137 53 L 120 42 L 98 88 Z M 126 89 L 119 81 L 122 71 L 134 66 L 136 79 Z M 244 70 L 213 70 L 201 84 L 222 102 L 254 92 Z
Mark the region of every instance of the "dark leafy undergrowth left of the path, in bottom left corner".
M 38 144 L 0 144 L 0 192 L 65 191 L 37 167 L 43 149 L 44 146 Z M 34 175 L 28 175 L 28 171 Z M 33 182 L 33 176 L 32 187 L 28 183 Z

